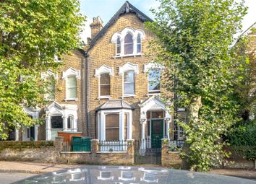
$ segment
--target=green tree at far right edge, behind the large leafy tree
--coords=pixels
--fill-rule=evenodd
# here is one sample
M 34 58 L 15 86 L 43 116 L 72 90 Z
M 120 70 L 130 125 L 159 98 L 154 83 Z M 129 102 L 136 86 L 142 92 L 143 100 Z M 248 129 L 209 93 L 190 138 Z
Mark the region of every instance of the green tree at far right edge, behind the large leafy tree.
M 251 29 L 251 34 L 256 33 L 256 29 Z M 256 113 L 256 45 L 255 37 L 242 35 L 234 45 L 236 59 L 240 60 L 243 70 L 237 72 L 237 78 L 242 79 L 235 84 L 234 97 L 240 108 L 238 117 L 242 119 L 240 125 L 249 121 L 249 115 Z

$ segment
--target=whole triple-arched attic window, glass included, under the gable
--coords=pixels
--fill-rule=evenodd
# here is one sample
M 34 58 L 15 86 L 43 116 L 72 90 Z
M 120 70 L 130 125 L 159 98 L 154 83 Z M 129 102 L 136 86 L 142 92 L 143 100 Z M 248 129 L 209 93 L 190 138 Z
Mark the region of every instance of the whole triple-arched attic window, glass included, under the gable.
M 126 38 L 127 35 L 129 35 L 129 38 Z M 141 40 L 145 40 L 145 32 L 141 29 L 135 30 L 132 27 L 126 27 L 121 32 L 115 32 L 111 38 L 111 43 L 116 44 L 116 56 L 114 56 L 114 58 L 126 56 L 141 56 Z M 125 45 L 129 43 L 132 45 L 126 47 Z M 129 52 L 127 52 L 127 49 L 129 49 Z

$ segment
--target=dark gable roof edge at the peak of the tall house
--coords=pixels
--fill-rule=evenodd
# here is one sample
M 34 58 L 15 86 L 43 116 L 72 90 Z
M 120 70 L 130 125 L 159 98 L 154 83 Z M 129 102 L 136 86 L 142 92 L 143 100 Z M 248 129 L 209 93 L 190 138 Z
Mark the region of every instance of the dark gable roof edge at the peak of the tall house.
M 121 8 L 119 9 L 119 11 L 116 12 L 116 14 L 114 14 L 114 16 L 108 21 L 108 23 L 101 29 L 100 32 L 98 32 L 98 34 L 95 36 L 95 38 L 93 38 L 93 40 L 91 40 L 90 42 L 90 47 L 88 48 L 88 51 L 90 51 L 91 48 L 93 48 L 93 46 L 95 45 L 95 43 L 97 43 L 98 39 L 100 39 L 108 30 L 109 27 L 111 27 L 111 25 L 114 25 L 114 23 L 116 22 L 117 19 L 119 19 L 119 17 L 122 14 L 136 14 L 136 16 L 142 21 L 142 22 L 153 22 L 153 19 L 150 19 L 150 17 L 148 17 L 147 15 L 145 15 L 144 13 L 140 12 L 139 9 L 137 9 L 135 6 L 133 6 L 132 4 L 129 3 L 129 1 L 125 1 L 125 3 L 121 6 Z

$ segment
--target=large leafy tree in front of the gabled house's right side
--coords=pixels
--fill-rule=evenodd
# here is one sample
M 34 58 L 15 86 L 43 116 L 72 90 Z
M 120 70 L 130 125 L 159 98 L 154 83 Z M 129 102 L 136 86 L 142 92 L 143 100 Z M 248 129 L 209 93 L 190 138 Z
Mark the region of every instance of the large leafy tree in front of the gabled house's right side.
M 155 22 L 148 28 L 155 62 L 166 72 L 162 85 L 178 97 L 174 105 L 186 108 L 184 168 L 209 170 L 226 154 L 221 134 L 234 123 L 236 104 L 231 99 L 239 65 L 231 45 L 246 12 L 234 0 L 159 0 Z

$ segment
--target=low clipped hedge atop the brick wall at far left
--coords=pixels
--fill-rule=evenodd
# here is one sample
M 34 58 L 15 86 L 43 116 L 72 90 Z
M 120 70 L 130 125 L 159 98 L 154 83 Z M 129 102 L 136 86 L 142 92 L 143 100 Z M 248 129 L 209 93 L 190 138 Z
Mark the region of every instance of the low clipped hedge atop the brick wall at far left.
M 54 146 L 54 141 L 0 141 L 0 152 L 4 149 L 25 150 Z

